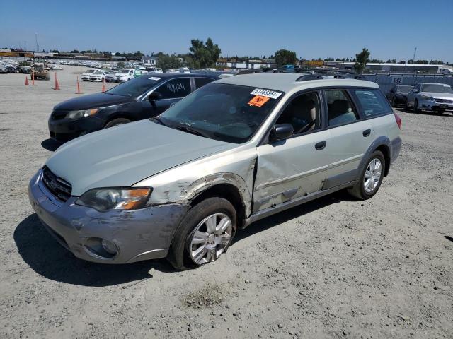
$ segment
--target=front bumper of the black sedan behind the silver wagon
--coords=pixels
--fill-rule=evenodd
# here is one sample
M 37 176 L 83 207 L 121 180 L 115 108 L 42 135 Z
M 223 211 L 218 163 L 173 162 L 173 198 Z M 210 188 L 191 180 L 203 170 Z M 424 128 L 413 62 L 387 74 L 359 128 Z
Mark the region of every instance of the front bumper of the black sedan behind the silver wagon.
M 53 119 L 49 118 L 50 138 L 56 141 L 66 142 L 86 133 L 103 129 L 105 121 L 96 117 L 84 117 L 81 119 Z

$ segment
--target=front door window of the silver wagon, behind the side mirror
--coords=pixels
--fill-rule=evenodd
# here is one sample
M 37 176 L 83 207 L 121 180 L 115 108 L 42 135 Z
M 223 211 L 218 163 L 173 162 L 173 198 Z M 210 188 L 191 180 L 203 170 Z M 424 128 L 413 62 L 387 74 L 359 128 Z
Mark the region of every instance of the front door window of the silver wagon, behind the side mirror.
M 319 129 L 319 117 L 318 93 L 304 93 L 289 102 L 276 124 L 291 124 L 294 134 L 299 134 Z

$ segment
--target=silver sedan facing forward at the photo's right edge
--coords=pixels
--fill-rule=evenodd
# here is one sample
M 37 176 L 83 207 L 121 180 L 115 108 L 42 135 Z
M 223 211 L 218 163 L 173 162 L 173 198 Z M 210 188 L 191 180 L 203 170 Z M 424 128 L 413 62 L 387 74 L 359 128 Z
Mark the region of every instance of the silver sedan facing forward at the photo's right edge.
M 453 110 L 453 89 L 445 83 L 418 83 L 407 95 L 406 109 L 445 112 Z

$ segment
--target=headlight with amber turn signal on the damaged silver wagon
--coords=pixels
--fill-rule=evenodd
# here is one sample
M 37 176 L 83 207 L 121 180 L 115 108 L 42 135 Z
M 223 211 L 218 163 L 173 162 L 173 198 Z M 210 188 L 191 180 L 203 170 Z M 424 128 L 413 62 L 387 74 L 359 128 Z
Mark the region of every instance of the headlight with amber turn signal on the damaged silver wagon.
M 91 189 L 76 200 L 76 205 L 106 210 L 137 210 L 148 201 L 150 188 L 138 189 Z

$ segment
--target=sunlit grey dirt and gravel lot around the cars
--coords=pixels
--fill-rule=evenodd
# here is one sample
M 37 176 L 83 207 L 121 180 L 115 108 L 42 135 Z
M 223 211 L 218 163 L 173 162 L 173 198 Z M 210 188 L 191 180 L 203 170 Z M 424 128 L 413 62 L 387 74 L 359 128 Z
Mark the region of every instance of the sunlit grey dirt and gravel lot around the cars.
M 399 113 L 401 155 L 369 201 L 256 222 L 197 270 L 103 266 L 59 246 L 26 193 L 55 149 L 52 107 L 76 96 L 81 69 L 64 67 L 59 91 L 0 75 L 1 338 L 453 338 L 451 114 Z

